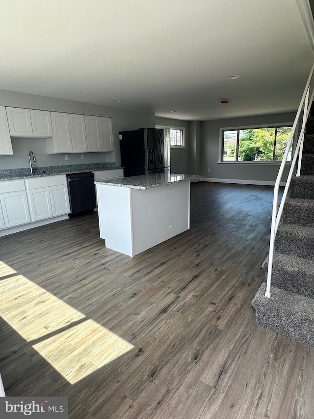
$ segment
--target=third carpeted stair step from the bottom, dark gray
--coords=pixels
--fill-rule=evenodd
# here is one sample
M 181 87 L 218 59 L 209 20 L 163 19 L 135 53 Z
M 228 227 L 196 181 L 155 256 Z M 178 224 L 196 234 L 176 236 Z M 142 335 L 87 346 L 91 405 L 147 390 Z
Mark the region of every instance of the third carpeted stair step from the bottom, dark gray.
M 314 260 L 314 228 L 280 223 L 275 239 L 275 251 Z

